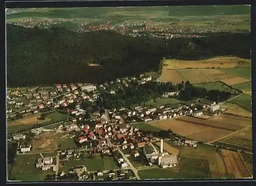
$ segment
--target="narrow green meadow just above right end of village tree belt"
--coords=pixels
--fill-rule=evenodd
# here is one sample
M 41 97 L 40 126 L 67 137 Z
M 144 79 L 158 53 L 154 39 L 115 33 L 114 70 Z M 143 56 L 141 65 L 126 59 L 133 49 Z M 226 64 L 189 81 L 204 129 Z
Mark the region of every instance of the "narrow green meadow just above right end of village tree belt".
M 209 82 L 209 83 L 199 83 L 199 84 L 193 84 L 193 86 L 195 87 L 202 87 L 205 88 L 207 90 L 219 90 L 219 91 L 228 91 L 230 92 L 232 95 L 236 94 L 236 90 L 226 86 L 223 83 L 220 82 Z

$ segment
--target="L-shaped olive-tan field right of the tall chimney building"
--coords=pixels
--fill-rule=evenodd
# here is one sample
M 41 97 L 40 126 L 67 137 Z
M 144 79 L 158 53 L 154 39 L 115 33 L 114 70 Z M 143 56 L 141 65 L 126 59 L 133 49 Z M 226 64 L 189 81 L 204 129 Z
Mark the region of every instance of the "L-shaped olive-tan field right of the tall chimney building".
M 216 147 L 204 144 L 197 144 L 197 147 L 182 146 L 180 152 L 184 158 L 207 160 L 212 178 L 227 178 L 224 161 L 222 156 L 217 153 Z

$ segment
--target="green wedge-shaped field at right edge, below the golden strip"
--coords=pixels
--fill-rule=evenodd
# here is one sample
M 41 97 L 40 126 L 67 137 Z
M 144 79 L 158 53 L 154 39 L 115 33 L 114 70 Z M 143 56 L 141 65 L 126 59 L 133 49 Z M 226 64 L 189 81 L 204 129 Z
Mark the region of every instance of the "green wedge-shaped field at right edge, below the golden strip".
M 233 76 L 238 76 L 248 80 L 251 79 L 251 66 L 242 68 L 220 68 L 219 70 Z

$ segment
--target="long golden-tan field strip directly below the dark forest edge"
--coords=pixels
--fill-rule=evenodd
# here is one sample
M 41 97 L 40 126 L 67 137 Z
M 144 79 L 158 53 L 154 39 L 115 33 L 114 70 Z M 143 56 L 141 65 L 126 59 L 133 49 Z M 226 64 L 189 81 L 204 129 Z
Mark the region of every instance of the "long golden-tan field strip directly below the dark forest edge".
M 205 60 L 178 60 L 178 59 L 165 59 L 163 64 L 165 68 L 180 69 L 180 68 L 211 68 L 211 67 L 237 67 L 248 66 L 251 64 L 250 60 L 238 57 L 216 57 Z

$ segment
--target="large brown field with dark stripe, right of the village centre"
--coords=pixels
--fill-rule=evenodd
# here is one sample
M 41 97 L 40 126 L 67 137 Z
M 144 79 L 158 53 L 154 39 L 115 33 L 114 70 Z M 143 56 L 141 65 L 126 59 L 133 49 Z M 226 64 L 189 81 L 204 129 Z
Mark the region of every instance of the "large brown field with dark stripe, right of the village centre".
M 219 114 L 217 117 L 208 120 L 182 117 L 149 124 L 163 130 L 171 129 L 174 133 L 199 142 L 209 143 L 250 126 L 251 119 Z

